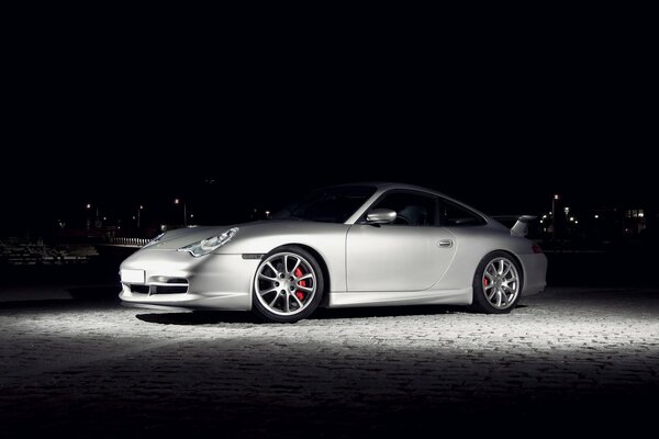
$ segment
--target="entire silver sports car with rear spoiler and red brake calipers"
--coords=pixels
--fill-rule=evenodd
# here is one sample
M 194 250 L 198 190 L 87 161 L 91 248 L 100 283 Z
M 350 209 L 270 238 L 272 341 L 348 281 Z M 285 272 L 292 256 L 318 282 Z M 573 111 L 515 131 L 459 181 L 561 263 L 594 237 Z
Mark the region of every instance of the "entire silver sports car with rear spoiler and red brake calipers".
M 167 232 L 121 264 L 125 304 L 252 311 L 291 323 L 319 306 L 451 304 L 502 314 L 543 291 L 547 259 L 526 239 L 429 189 L 324 188 L 271 219 Z

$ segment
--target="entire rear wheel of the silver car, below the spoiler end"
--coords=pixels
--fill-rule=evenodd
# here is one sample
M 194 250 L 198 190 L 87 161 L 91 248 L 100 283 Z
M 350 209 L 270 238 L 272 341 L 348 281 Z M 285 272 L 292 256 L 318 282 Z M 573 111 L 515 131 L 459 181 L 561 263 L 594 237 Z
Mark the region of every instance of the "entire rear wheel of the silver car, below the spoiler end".
M 520 301 L 522 270 L 511 255 L 492 251 L 487 255 L 473 275 L 471 308 L 488 314 L 510 313 Z

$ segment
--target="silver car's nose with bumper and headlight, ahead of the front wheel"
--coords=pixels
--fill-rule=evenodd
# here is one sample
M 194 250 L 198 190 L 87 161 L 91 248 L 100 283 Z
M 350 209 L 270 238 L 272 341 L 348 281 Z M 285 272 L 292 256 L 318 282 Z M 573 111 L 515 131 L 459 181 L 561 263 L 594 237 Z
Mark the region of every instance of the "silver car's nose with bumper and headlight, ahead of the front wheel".
M 172 230 L 120 267 L 121 300 L 146 307 L 250 309 L 259 259 L 216 250 L 239 230 Z

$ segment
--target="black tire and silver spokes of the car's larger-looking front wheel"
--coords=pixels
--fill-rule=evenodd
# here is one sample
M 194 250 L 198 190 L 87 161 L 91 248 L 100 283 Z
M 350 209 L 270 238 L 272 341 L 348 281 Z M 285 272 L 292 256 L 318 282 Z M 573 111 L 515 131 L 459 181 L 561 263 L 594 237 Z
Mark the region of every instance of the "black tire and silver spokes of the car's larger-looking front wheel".
M 288 259 L 284 259 L 286 256 L 288 256 Z M 289 266 L 291 263 L 294 264 L 295 258 L 300 258 L 300 263 L 295 267 L 298 267 L 300 270 L 304 270 L 302 272 L 303 275 L 312 274 L 312 278 L 309 278 L 304 281 L 297 281 L 290 277 L 294 271 L 292 270 L 289 272 L 292 267 L 283 268 L 282 266 L 284 260 L 289 262 Z M 268 262 L 270 262 L 270 267 L 276 266 L 275 268 L 277 269 L 277 272 L 267 267 Z M 261 279 L 259 277 L 260 273 L 264 273 L 264 275 L 267 275 L 267 278 Z M 286 273 L 284 277 L 279 279 L 279 275 L 282 273 Z M 269 280 L 270 277 L 277 278 L 276 280 L 279 282 Z M 290 281 L 288 281 L 289 279 Z M 310 297 L 303 297 L 303 294 L 306 292 L 299 290 L 300 288 L 304 288 L 301 286 L 303 283 L 304 285 L 312 285 L 306 286 L 308 289 L 313 289 L 313 293 L 309 293 Z M 292 292 L 289 292 L 289 289 Z M 309 317 L 319 307 L 321 301 L 323 300 L 323 270 L 321 269 L 321 266 L 316 259 L 309 251 L 298 246 L 279 247 L 266 255 L 256 269 L 252 285 L 252 312 L 263 322 L 295 323 Z M 267 290 L 276 291 L 261 294 Z M 259 293 L 259 291 L 261 293 Z M 300 299 L 293 297 L 293 294 L 300 294 L 299 297 L 303 297 L 303 302 L 300 302 Z M 259 297 L 263 297 L 263 302 Z M 287 305 L 287 301 L 290 301 L 289 305 Z M 273 305 L 270 306 L 272 303 Z M 303 303 L 303 306 L 299 306 L 298 303 Z M 281 306 L 281 309 L 279 309 L 279 306 Z M 286 314 L 287 306 L 289 306 L 288 313 L 290 314 Z M 295 309 L 295 306 L 299 307 Z

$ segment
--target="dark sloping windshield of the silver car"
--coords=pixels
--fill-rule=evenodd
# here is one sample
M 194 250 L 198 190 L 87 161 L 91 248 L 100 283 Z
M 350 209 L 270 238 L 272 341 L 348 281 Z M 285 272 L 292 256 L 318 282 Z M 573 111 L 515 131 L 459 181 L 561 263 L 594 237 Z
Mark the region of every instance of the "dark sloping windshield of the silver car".
M 375 192 L 370 185 L 321 189 L 275 213 L 272 218 L 345 223 Z

